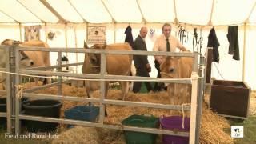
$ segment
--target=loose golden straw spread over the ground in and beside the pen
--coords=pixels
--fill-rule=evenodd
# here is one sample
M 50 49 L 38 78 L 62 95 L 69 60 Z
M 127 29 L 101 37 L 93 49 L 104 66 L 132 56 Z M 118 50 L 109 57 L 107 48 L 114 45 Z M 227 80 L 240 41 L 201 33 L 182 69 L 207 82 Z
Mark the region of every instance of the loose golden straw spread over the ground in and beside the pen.
M 38 93 L 40 94 L 57 94 L 57 87 L 49 88 L 47 90 L 40 90 Z M 62 94 L 69 96 L 78 96 L 85 97 L 86 92 L 83 88 L 76 88 L 74 86 L 62 86 Z M 96 91 L 92 94 L 93 98 L 99 98 L 99 91 Z M 121 99 L 121 91 L 120 90 L 110 90 L 108 94 L 109 99 Z M 168 104 L 170 101 L 168 95 L 165 92 L 160 92 L 156 94 L 134 94 L 129 93 L 126 97 L 127 101 L 134 102 L 154 102 L 154 103 L 162 103 Z M 85 105 L 85 102 L 66 102 L 64 101 L 64 105 L 62 106 L 62 116 L 63 110 L 66 110 L 75 105 Z M 95 104 L 97 105 L 97 104 Z M 108 113 L 108 117 L 105 118 L 104 122 L 107 124 L 118 124 L 120 125 L 122 120 L 129 117 L 132 114 L 149 114 L 159 117 L 161 115 L 172 115 L 174 114 L 174 110 L 160 110 L 160 109 L 151 109 L 151 108 L 142 108 L 135 106 L 106 106 L 106 110 Z M 180 114 L 182 112 L 175 111 L 175 115 Z M 186 115 L 190 115 L 190 113 L 186 113 Z M 225 118 L 219 117 L 217 114 L 214 114 L 211 110 L 208 110 L 206 106 L 202 110 L 202 122 L 200 129 L 200 143 L 234 143 L 234 139 L 230 138 L 230 134 L 226 134 L 224 129 L 230 129 L 230 124 L 226 121 Z M 87 132 L 81 132 L 74 130 L 72 133 L 75 135 L 84 135 L 85 133 L 90 133 L 90 129 L 86 129 Z M 84 131 L 86 131 L 84 130 Z M 89 130 L 89 131 L 88 131 Z M 98 132 L 98 142 L 101 143 L 125 143 L 124 136 L 122 131 L 120 130 L 106 130 L 106 129 L 96 129 Z M 60 140 L 67 140 L 68 132 L 64 132 L 62 134 L 66 136 L 62 136 Z M 69 136 L 70 137 L 70 136 Z M 81 138 L 81 139 L 80 139 Z M 82 141 L 82 136 L 77 137 L 73 140 L 74 142 Z M 161 143 L 161 139 L 158 137 L 157 143 Z

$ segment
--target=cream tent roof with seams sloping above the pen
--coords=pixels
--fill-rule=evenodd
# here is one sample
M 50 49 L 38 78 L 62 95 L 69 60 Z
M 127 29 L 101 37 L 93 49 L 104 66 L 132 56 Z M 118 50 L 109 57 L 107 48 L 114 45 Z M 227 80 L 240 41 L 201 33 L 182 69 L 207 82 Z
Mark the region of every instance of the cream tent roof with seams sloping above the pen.
M 1 0 L 1 23 L 256 23 L 256 0 Z

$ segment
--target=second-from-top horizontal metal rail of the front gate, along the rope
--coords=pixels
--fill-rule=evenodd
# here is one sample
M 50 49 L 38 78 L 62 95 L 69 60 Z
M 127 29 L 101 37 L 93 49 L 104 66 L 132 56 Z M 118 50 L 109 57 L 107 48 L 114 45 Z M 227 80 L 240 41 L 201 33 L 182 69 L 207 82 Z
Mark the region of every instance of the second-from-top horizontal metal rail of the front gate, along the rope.
M 85 78 L 94 79 L 94 81 L 142 81 L 142 82 L 169 82 L 169 83 L 186 83 L 191 84 L 191 78 L 151 78 L 151 77 L 132 77 L 132 76 L 123 76 L 123 75 L 110 75 L 105 74 L 104 79 L 101 79 L 100 74 L 72 74 L 66 72 L 50 72 L 50 71 L 40 71 L 40 70 L 19 70 L 20 74 L 30 74 L 30 75 L 46 75 L 46 76 L 59 76 L 59 77 L 70 77 L 70 79 L 75 80 L 85 80 Z M 74 78 L 75 77 L 75 78 Z M 69 79 L 69 78 L 66 78 Z M 90 81 L 92 81 L 90 79 Z

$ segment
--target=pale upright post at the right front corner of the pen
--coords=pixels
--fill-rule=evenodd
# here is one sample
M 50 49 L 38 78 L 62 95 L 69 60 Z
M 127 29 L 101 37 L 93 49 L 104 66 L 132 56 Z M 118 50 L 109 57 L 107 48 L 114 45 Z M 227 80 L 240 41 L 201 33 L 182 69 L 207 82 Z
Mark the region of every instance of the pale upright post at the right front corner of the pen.
M 192 73 L 191 107 L 190 107 L 190 144 L 195 143 L 196 136 L 196 116 L 197 116 L 197 97 L 198 97 L 198 74 Z

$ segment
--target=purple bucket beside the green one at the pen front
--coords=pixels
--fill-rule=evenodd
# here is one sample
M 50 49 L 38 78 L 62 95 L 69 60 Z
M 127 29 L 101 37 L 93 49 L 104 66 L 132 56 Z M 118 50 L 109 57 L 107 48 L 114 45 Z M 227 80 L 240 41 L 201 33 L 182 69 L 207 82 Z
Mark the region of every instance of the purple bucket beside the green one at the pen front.
M 178 131 L 190 131 L 190 118 L 184 118 L 184 129 L 182 129 L 182 117 L 181 116 L 170 116 L 160 118 L 160 124 L 162 129 L 165 130 L 178 130 Z M 189 137 L 174 136 L 174 135 L 163 135 L 163 144 L 186 144 L 189 143 Z

